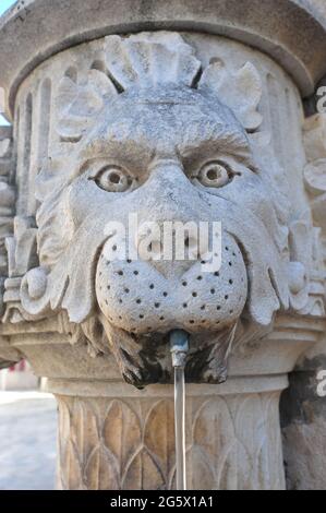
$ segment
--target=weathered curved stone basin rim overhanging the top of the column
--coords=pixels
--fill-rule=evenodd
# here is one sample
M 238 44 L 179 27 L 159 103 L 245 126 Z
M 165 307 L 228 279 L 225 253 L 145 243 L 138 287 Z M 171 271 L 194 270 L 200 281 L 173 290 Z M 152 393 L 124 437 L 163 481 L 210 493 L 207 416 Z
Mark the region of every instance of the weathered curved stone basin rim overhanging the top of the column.
M 326 74 L 325 16 L 313 0 L 20 0 L 0 17 L 0 86 L 10 117 L 20 84 L 41 62 L 109 34 L 191 31 L 269 55 L 314 93 Z

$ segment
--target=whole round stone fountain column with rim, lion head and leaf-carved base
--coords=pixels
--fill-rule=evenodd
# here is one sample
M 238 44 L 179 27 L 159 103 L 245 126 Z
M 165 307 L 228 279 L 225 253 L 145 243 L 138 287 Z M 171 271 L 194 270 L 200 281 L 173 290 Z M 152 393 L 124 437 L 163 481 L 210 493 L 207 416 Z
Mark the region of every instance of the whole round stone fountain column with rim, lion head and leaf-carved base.
M 176 487 L 173 329 L 190 336 L 189 487 L 285 488 L 279 397 L 325 330 L 303 179 L 303 98 L 326 73 L 315 8 L 31 0 L 4 17 L 0 363 L 48 378 L 60 488 Z M 214 230 L 169 259 L 153 222 Z

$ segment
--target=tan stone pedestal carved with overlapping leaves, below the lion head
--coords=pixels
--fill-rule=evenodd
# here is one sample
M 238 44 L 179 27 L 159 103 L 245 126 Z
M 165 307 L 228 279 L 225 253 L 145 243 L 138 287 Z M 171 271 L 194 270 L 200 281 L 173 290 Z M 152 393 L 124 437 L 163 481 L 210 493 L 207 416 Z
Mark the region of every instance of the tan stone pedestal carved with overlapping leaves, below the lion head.
M 176 489 L 171 386 L 49 386 L 59 403 L 60 488 Z M 285 488 L 278 408 L 286 386 L 286 377 L 188 385 L 189 489 Z

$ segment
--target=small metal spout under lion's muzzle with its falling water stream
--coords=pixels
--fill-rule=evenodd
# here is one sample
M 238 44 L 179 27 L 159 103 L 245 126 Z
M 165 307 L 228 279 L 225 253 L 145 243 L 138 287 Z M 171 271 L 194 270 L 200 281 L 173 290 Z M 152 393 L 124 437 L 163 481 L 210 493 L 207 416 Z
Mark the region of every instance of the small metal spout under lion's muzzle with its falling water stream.
M 170 333 L 170 350 L 174 368 L 177 490 L 186 490 L 184 368 L 189 351 L 189 334 L 183 330 L 173 330 Z

